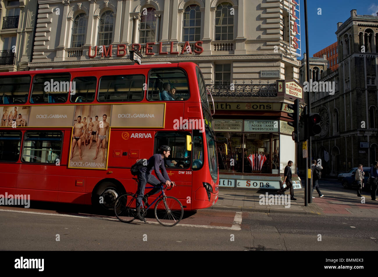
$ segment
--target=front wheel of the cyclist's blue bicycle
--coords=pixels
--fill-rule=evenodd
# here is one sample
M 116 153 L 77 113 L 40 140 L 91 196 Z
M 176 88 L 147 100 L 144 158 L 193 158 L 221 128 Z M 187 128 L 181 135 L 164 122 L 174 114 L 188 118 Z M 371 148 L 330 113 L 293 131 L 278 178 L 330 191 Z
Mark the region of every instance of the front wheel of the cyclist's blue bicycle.
M 155 217 L 163 226 L 175 226 L 183 218 L 181 202 L 172 196 L 162 197 L 155 205 Z

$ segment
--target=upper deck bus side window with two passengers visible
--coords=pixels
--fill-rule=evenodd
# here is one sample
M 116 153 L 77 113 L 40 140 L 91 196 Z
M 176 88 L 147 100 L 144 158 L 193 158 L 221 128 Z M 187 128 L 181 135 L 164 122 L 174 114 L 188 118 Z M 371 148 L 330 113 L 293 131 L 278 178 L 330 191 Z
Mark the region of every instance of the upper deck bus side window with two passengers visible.
M 178 68 L 151 69 L 147 99 L 181 101 L 189 99 L 189 84 L 184 70 Z

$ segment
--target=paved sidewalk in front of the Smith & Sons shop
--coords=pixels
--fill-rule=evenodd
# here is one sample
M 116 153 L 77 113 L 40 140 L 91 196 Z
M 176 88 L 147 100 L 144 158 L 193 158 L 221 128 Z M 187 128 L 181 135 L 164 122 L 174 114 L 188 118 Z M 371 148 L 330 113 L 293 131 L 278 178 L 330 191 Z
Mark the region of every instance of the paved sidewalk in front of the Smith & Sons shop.
M 209 209 L 217 210 L 235 210 L 235 211 L 259 211 L 264 213 L 296 213 L 296 214 L 324 214 L 324 215 L 360 215 L 360 216 L 377 216 L 378 201 L 371 200 L 368 192 L 363 192 L 364 201 L 357 197 L 353 191 L 332 191 L 322 188 L 324 197 L 319 197 L 314 191 L 313 202 L 304 206 L 304 189 L 294 190 L 294 197 L 297 200 L 290 199 L 289 191 L 286 191 L 285 197 L 287 202 L 282 205 L 274 203 L 271 200 L 264 205 L 262 196 L 277 195 L 276 191 L 258 190 L 258 189 L 240 189 L 240 188 L 219 188 L 218 201 Z M 268 198 L 269 199 L 269 198 Z M 261 200 L 261 201 L 260 201 Z M 280 200 L 283 200 L 282 198 Z M 364 202 L 364 203 L 361 203 Z M 289 205 L 290 203 L 290 205 Z

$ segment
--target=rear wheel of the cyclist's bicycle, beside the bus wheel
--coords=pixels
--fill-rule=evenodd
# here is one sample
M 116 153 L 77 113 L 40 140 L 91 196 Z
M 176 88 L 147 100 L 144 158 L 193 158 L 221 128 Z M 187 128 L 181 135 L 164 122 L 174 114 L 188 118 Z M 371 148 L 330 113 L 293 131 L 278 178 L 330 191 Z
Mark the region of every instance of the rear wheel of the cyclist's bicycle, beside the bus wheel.
M 136 214 L 136 198 L 132 193 L 125 193 L 117 197 L 114 204 L 116 217 L 122 222 L 132 222 Z

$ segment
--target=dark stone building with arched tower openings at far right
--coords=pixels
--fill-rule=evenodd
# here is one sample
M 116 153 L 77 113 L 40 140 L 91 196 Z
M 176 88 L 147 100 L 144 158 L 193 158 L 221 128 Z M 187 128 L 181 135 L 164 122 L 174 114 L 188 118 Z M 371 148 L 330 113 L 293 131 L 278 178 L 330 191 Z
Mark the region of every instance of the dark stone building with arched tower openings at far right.
M 337 26 L 339 67 L 320 80 L 335 82 L 335 93 L 311 93 L 311 112 L 323 118 L 312 153 L 331 176 L 378 160 L 378 16 L 352 10 Z

